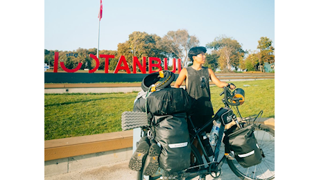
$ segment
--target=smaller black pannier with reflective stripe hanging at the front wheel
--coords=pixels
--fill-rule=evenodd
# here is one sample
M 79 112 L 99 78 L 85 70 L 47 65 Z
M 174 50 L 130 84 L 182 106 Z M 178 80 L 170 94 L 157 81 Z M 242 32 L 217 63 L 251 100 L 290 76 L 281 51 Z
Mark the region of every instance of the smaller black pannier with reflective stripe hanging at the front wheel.
M 255 138 L 254 130 L 255 125 L 248 125 L 228 135 L 225 132 L 223 142 L 229 150 L 234 151 L 235 159 L 243 168 L 261 163 L 261 149 Z

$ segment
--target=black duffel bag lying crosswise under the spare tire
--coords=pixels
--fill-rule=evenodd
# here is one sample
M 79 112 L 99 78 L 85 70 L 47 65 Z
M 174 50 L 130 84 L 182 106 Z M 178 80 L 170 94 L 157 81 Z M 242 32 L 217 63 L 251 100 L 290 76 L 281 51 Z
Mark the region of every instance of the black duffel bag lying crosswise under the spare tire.
M 141 95 L 143 92 L 140 92 Z M 145 112 L 145 96 L 137 96 L 133 111 Z M 147 98 L 148 112 L 153 116 L 187 112 L 191 109 L 191 96 L 182 88 L 164 88 Z

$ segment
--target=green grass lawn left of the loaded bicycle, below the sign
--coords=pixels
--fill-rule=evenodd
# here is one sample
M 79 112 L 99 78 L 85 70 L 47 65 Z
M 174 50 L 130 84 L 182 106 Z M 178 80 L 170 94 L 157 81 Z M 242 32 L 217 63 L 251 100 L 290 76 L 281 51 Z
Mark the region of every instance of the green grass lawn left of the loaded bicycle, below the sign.
M 44 140 L 121 131 L 137 93 L 44 94 Z

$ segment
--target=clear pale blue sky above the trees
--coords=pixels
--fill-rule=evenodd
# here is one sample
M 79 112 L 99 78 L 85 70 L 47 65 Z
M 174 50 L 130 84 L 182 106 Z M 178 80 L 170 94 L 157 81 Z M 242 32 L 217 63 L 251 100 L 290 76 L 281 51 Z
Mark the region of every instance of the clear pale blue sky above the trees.
M 275 47 L 275 0 L 103 1 L 100 50 L 117 50 L 134 31 L 164 37 L 186 29 L 205 46 L 220 35 L 256 51 L 260 37 Z M 100 0 L 44 0 L 44 48 L 97 48 Z

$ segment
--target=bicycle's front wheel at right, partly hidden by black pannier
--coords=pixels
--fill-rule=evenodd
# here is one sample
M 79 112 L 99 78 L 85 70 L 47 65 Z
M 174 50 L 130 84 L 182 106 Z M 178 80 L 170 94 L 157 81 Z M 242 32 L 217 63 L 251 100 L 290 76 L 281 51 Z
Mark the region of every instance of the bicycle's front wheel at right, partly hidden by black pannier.
M 241 179 L 275 179 L 275 130 L 266 125 L 256 124 L 257 128 L 254 134 L 261 150 L 264 152 L 261 163 L 249 168 L 243 168 L 234 158 L 227 159 L 227 163 L 232 172 Z M 225 152 L 229 151 L 225 150 Z M 230 153 L 230 155 L 232 156 L 233 153 Z

